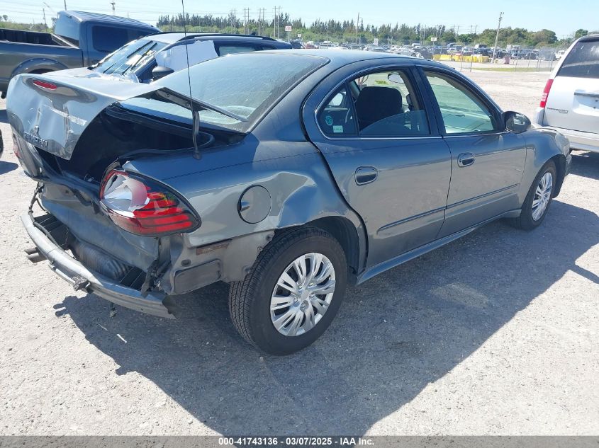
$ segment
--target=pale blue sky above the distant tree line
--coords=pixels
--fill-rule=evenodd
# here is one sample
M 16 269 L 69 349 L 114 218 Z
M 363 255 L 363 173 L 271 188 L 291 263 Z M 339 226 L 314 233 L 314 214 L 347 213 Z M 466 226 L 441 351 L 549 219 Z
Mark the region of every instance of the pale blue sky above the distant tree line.
M 111 0 L 66 0 L 69 9 L 111 13 Z M 114 0 L 116 13 L 120 16 L 137 18 L 147 23 L 155 23 L 158 16 L 181 11 L 179 0 Z M 45 0 L 54 11 L 64 8 L 64 0 Z M 237 16 L 243 17 L 243 8 L 250 8 L 250 16 L 257 18 L 258 8 L 266 8 L 267 18 L 274 13 L 274 6 L 281 6 L 281 11 L 291 14 L 293 18 L 301 17 L 310 23 L 317 18 L 338 20 L 355 18 L 358 13 L 364 18 L 364 25 L 371 23 L 408 23 L 415 25 L 444 24 L 448 27 L 459 26 L 469 32 L 470 27 L 478 25 L 478 30 L 496 28 L 500 11 L 505 13 L 502 27 L 512 26 L 540 30 L 554 30 L 558 38 L 572 34 L 578 28 L 599 30 L 599 0 L 378 0 L 364 2 L 357 0 L 323 1 L 279 0 L 270 4 L 263 0 L 223 0 L 218 2 L 186 0 L 185 8 L 190 13 L 212 13 L 226 15 L 232 8 L 237 8 Z M 7 14 L 12 20 L 31 22 L 42 21 L 44 1 L 38 0 L 3 0 L 0 14 Z M 50 22 L 52 11 L 47 6 L 46 15 Z

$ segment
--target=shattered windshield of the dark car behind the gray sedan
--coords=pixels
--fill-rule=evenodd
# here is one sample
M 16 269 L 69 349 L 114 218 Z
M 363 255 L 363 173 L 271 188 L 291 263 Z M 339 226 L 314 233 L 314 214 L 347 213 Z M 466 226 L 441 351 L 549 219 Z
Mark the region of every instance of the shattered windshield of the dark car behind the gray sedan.
M 102 59 L 96 71 L 103 74 L 127 74 L 128 71 L 142 67 L 154 56 L 155 52 L 162 50 L 167 44 L 155 42 L 150 39 L 139 39 L 129 42 Z

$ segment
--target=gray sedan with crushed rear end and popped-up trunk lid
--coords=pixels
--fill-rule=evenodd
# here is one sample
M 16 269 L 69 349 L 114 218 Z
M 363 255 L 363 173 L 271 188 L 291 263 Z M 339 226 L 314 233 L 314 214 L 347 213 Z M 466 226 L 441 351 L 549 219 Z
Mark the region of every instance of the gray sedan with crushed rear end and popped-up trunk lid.
M 229 282 L 235 328 L 275 354 L 313 343 L 347 285 L 494 219 L 539 226 L 571 161 L 561 134 L 422 59 L 256 52 L 103 82 L 11 81 L 38 182 L 28 257 L 167 318 L 178 294 Z

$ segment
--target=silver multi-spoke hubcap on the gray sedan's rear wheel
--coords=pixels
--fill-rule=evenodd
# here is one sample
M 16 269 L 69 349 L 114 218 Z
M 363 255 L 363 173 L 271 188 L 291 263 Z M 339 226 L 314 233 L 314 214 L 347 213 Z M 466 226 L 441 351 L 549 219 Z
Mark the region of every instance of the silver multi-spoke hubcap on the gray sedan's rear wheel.
M 322 253 L 306 253 L 281 273 L 270 299 L 274 328 L 286 336 L 303 335 L 327 312 L 335 293 L 335 267 Z

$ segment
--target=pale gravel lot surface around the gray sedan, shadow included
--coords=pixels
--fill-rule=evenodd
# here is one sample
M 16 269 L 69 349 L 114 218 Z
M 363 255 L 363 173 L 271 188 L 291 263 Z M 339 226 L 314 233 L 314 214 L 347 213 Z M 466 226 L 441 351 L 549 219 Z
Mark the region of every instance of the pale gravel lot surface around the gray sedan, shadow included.
M 532 115 L 547 74 L 469 74 Z M 349 289 L 327 333 L 261 357 L 227 286 L 167 321 L 74 293 L 18 215 L 33 182 L 0 128 L 0 434 L 597 435 L 599 154 L 536 231 L 496 222 Z

